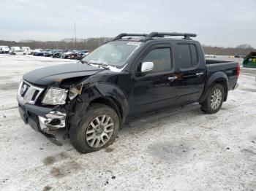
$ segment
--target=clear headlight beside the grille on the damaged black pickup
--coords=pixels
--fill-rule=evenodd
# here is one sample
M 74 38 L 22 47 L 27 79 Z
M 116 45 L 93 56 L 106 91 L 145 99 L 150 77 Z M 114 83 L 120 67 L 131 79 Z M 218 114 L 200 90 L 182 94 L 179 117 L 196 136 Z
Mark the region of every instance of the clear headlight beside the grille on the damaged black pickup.
M 50 87 L 45 93 L 45 97 L 42 100 L 42 104 L 48 105 L 63 105 L 66 104 L 68 90 Z

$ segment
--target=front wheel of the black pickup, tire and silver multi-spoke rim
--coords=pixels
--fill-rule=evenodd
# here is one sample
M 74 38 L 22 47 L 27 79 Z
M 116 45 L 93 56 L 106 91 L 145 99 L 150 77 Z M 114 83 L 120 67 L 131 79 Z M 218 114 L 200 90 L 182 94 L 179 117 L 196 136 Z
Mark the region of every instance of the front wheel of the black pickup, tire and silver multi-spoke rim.
M 78 126 L 70 127 L 69 139 L 78 152 L 94 152 L 113 144 L 119 125 L 118 114 L 110 106 L 92 104 Z

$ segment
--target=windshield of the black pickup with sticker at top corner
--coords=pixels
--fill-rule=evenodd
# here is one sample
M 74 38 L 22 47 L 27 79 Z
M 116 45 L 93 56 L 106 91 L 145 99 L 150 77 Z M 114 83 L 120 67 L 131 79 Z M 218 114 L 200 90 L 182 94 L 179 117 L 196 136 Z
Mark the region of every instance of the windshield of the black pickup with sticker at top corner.
M 123 66 L 142 42 L 113 41 L 103 44 L 91 52 L 82 61 L 104 65 Z

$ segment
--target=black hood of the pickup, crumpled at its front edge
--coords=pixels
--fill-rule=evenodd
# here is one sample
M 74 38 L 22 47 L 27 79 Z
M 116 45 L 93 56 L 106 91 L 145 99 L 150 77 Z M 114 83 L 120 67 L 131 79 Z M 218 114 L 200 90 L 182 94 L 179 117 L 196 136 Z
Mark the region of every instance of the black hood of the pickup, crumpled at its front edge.
M 102 70 L 104 69 L 83 63 L 67 63 L 30 71 L 23 76 L 23 79 L 35 85 L 49 86 L 53 85 L 56 80 L 88 77 Z

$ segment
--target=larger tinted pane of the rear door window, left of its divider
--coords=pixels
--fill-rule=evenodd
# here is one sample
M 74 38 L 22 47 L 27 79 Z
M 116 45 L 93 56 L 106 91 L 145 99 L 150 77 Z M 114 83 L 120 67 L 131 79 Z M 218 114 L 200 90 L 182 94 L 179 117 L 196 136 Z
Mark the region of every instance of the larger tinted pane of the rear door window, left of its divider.
M 181 69 L 190 69 L 192 67 L 189 44 L 178 44 L 178 56 Z

